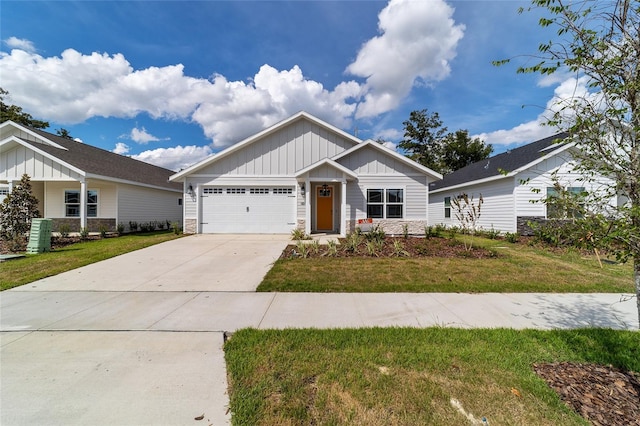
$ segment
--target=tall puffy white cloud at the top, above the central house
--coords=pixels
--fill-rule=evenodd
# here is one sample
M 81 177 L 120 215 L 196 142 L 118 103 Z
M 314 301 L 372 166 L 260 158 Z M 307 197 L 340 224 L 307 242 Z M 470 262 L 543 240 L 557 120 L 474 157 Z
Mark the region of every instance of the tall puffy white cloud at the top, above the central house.
M 442 0 L 391 0 L 378 15 L 381 35 L 366 42 L 346 71 L 366 78 L 356 117 L 373 117 L 399 105 L 416 83 L 446 78 L 464 35 L 453 8 Z

